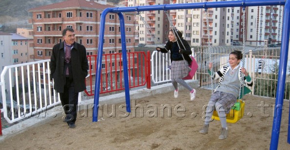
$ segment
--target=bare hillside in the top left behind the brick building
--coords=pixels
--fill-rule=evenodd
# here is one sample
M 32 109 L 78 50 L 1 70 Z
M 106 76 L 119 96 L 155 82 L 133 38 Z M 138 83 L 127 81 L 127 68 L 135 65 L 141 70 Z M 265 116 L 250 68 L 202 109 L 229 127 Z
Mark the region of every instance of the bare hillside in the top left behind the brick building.
M 0 31 L 13 33 L 16 28 L 32 27 L 28 24 L 31 13 L 28 9 L 40 7 L 65 0 L 0 0 Z M 112 5 L 120 0 L 107 0 Z

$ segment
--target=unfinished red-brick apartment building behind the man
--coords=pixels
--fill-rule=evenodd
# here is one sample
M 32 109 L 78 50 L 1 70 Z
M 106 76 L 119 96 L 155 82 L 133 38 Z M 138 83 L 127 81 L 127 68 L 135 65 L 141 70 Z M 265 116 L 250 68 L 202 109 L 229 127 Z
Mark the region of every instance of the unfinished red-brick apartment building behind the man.
M 101 15 L 105 8 L 111 7 L 115 6 L 107 5 L 106 0 L 66 0 L 29 9 L 28 11 L 32 13 L 32 19 L 29 22 L 33 24 L 34 42 L 31 46 L 34 48 L 35 60 L 50 59 L 52 48 L 55 44 L 62 42 L 62 30 L 66 27 L 74 29 L 75 40 L 85 46 L 88 56 L 97 55 Z M 124 13 L 127 52 L 134 52 L 134 47 L 138 44 L 135 43 L 137 24 L 135 25 L 134 17 L 130 13 Z M 121 53 L 121 29 L 118 15 L 107 14 L 105 23 L 103 54 Z M 95 63 L 92 62 L 92 64 L 90 67 L 96 68 Z M 105 68 L 103 63 L 102 68 Z M 102 71 L 106 74 L 105 70 Z M 122 71 L 118 74 L 121 73 Z

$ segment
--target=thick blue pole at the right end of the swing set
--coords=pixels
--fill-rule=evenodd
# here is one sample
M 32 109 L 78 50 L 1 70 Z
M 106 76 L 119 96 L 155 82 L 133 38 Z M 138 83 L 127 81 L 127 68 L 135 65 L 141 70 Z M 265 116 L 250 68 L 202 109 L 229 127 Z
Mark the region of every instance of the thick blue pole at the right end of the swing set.
M 289 33 L 290 33 L 290 0 L 286 1 L 284 7 L 284 19 L 283 19 L 283 34 L 282 34 L 282 45 L 280 53 L 280 62 L 279 62 L 279 72 L 278 72 L 278 83 L 276 91 L 276 102 L 274 109 L 274 118 L 271 134 L 271 143 L 270 150 L 277 150 L 281 126 L 281 116 L 282 116 L 282 107 L 284 99 L 284 90 L 285 90 L 285 79 L 287 74 L 287 58 L 288 58 L 288 47 L 289 47 Z M 288 143 L 290 141 L 289 137 L 289 127 L 288 127 Z

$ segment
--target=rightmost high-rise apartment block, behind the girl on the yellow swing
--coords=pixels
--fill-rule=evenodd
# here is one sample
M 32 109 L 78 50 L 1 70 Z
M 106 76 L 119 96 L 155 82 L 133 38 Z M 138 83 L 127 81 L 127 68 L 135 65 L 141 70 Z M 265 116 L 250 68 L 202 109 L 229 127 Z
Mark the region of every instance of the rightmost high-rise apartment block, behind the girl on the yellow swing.
M 284 6 L 255 6 L 246 9 L 246 45 L 281 43 Z M 234 8 L 234 40 L 243 40 L 242 8 Z M 240 18 L 239 18 L 240 17 Z

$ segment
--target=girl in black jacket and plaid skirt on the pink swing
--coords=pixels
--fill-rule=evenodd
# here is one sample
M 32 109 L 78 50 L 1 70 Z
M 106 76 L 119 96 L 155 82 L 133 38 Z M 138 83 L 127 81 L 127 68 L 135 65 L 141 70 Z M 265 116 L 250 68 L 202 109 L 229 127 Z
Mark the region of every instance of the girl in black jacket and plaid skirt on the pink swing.
M 174 32 L 174 33 L 173 33 Z M 192 54 L 189 44 L 185 39 L 182 38 L 182 33 L 177 29 L 171 29 L 168 33 L 169 40 L 167 41 L 164 48 L 157 47 L 156 50 L 161 53 L 168 53 L 170 51 L 171 60 L 171 81 L 174 87 L 174 97 L 178 97 L 178 83 L 184 86 L 190 93 L 190 100 L 194 100 L 196 90 L 191 88 L 182 78 L 186 77 L 189 73 L 189 64 L 191 58 L 189 55 Z M 178 43 L 177 43 L 178 42 Z M 185 50 L 179 48 L 179 45 L 184 45 Z M 184 59 L 183 59 L 183 56 Z

